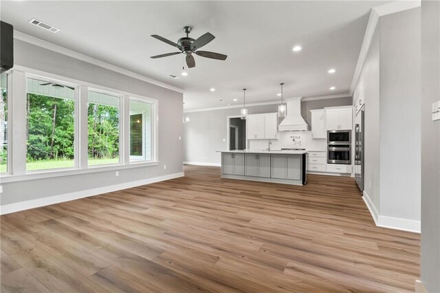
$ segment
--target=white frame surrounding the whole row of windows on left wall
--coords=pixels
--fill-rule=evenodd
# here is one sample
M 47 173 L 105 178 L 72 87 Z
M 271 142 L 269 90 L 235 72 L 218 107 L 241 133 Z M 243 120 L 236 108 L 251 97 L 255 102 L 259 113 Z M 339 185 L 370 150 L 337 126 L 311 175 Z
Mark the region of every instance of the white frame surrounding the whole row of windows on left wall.
M 138 95 L 129 93 L 127 91 L 112 89 L 104 87 L 102 85 L 96 85 L 94 83 L 88 83 L 83 80 L 76 80 L 74 78 L 68 78 L 65 76 L 58 76 L 48 72 L 43 72 L 37 69 L 24 67 L 21 65 L 15 65 L 13 69 L 8 72 L 8 173 L 0 173 L 1 182 L 19 182 L 25 180 L 36 180 L 49 177 L 60 177 L 66 175 L 81 175 L 87 173 L 98 173 L 113 170 L 133 169 L 146 166 L 159 165 L 159 141 L 158 141 L 158 121 L 159 121 L 159 101 L 144 95 Z M 42 81 L 58 83 L 61 85 L 68 85 L 75 89 L 75 137 L 74 137 L 74 167 L 67 168 L 54 168 L 54 169 L 41 169 L 35 171 L 26 171 L 26 159 L 24 158 L 24 166 L 22 165 L 22 155 L 26 155 L 27 147 L 25 151 L 20 149 L 19 145 L 14 145 L 14 124 L 25 124 L 26 117 L 14 117 L 14 110 L 19 111 L 23 107 L 23 102 L 19 104 L 21 107 L 14 109 L 14 99 L 22 99 L 23 97 L 15 96 L 17 92 L 24 95 L 28 93 L 27 78 L 36 78 Z M 23 79 L 22 79 L 23 78 Z M 13 81 L 14 80 L 14 81 Z M 19 85 L 17 87 L 17 85 Z M 17 89 L 17 92 L 15 92 Z M 88 165 L 88 143 L 84 149 L 84 140 L 88 141 L 88 121 L 87 121 L 87 104 L 88 91 L 100 91 L 104 94 L 110 94 L 111 96 L 120 96 L 120 162 L 119 164 L 98 164 Z M 20 94 L 20 95 L 21 95 Z M 86 99 L 84 100 L 84 95 Z M 148 102 L 151 104 L 151 160 L 142 160 L 136 162 L 130 162 L 129 159 L 129 100 L 139 100 L 140 102 Z M 85 104 L 85 105 L 84 105 Z M 85 109 L 85 124 L 84 124 L 84 109 Z M 19 112 L 17 112 L 19 113 Z M 23 121 L 22 121 L 23 120 Z M 128 127 L 128 128 L 127 128 Z M 18 127 L 22 129 L 23 125 Z M 85 128 L 85 129 L 84 129 Z M 17 139 L 19 141 L 23 140 Z M 27 140 L 25 140 L 27 142 Z M 13 146 L 14 145 L 14 146 Z M 17 157 L 18 156 L 18 157 Z M 87 162 L 84 160 L 84 156 Z M 15 162 L 12 162 L 12 158 L 17 158 Z M 17 167 L 17 169 L 15 168 Z

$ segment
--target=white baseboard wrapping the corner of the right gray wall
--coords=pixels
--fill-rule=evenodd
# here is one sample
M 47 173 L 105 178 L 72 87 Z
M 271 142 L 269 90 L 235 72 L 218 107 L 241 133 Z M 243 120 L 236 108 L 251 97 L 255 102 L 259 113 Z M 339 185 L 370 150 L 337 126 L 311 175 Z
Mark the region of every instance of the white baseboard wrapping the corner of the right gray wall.
M 373 202 L 371 201 L 369 195 L 367 195 L 365 191 L 364 191 L 364 196 L 362 198 L 364 199 L 367 208 L 369 208 L 371 216 L 373 217 L 376 226 L 420 233 L 421 231 L 420 221 L 380 215 L 377 209 L 375 208 Z

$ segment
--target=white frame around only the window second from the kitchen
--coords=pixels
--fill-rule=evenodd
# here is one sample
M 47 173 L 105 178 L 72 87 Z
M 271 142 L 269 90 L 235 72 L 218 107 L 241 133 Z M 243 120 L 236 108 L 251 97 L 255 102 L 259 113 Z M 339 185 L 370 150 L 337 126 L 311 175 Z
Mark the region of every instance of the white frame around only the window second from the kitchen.
M 87 167 L 94 169 L 94 168 L 100 168 L 101 166 L 121 166 L 124 164 L 123 160 L 124 160 L 124 155 L 123 155 L 123 151 L 124 151 L 124 135 L 123 135 L 123 124 L 124 124 L 124 111 L 123 111 L 123 107 L 124 107 L 124 95 L 121 94 L 115 94 L 112 91 L 105 91 L 102 89 L 96 89 L 94 87 L 86 87 L 87 90 L 87 105 L 85 107 L 89 107 L 89 91 L 93 91 L 95 93 L 98 94 L 106 94 L 108 96 L 113 96 L 115 98 L 118 98 L 118 109 L 119 109 L 119 127 L 118 127 L 118 131 L 119 131 L 119 153 L 118 153 L 118 158 L 119 158 L 119 162 L 118 163 L 109 163 L 109 164 L 96 164 L 96 165 L 91 165 L 89 164 L 89 145 L 88 145 L 88 138 L 89 138 L 89 116 L 87 115 Z

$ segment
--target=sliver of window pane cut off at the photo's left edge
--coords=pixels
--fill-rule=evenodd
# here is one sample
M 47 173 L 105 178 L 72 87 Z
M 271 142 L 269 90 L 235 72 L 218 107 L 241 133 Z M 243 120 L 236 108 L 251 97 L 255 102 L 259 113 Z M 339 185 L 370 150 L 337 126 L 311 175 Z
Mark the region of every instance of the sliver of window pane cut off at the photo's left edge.
M 0 75 L 0 173 L 8 172 L 8 76 Z

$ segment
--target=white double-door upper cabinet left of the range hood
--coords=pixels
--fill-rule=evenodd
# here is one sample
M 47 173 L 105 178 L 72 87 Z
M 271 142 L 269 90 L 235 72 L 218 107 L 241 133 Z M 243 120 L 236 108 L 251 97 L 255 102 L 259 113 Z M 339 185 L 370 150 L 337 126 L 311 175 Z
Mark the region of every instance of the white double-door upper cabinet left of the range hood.
M 248 115 L 246 129 L 248 140 L 278 139 L 278 116 L 276 113 Z

